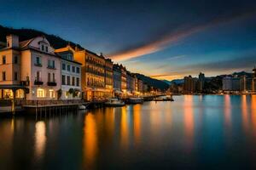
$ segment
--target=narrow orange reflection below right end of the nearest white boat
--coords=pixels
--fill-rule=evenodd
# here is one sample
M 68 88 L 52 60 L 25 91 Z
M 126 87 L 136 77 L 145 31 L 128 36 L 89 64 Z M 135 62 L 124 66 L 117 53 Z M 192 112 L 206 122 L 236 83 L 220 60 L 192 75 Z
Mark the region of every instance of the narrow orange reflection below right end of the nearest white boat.
M 128 115 L 126 111 L 126 107 L 122 107 L 121 112 L 121 145 L 128 146 Z

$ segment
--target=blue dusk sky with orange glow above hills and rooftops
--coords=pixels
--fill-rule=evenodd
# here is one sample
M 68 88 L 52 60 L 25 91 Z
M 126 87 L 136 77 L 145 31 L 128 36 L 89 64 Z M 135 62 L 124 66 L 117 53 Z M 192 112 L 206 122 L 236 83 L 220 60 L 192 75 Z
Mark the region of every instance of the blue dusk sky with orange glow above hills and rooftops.
M 60 36 L 158 79 L 256 65 L 254 0 L 0 0 L 0 25 Z

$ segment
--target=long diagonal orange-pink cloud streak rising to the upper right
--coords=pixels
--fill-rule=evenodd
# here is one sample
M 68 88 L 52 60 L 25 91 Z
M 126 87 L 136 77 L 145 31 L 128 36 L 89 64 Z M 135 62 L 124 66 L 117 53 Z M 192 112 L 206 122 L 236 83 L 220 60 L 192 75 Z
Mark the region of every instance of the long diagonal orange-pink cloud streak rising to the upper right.
M 157 51 L 160 51 L 163 48 L 170 47 L 171 45 L 177 43 L 178 41 L 182 40 L 183 38 L 189 37 L 192 34 L 195 34 L 200 31 L 204 31 L 208 28 L 213 26 L 218 26 L 220 24 L 225 24 L 228 22 L 232 22 L 235 20 L 244 20 L 256 14 L 256 10 L 247 11 L 245 13 L 239 14 L 231 14 L 226 16 L 219 16 L 215 20 L 210 20 L 205 24 L 201 24 L 198 26 L 191 26 L 189 29 L 181 28 L 178 31 L 167 34 L 164 37 L 160 37 L 154 42 L 148 42 L 147 44 L 137 47 L 131 48 L 125 51 L 121 51 L 117 54 L 110 55 L 111 59 L 115 61 L 119 60 L 126 60 L 126 59 L 133 59 L 137 58 L 146 54 L 153 54 Z

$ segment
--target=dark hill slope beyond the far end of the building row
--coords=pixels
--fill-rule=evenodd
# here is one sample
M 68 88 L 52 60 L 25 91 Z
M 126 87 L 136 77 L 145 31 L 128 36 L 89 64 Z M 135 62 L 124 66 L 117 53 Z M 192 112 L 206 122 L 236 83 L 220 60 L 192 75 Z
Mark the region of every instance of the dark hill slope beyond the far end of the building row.
M 149 86 L 152 86 L 154 88 L 160 88 L 161 90 L 165 90 L 169 88 L 169 85 L 166 82 L 162 82 L 160 80 L 151 78 L 151 77 L 146 77 L 142 74 L 136 73 L 137 78 L 143 80 L 143 82 L 146 82 Z

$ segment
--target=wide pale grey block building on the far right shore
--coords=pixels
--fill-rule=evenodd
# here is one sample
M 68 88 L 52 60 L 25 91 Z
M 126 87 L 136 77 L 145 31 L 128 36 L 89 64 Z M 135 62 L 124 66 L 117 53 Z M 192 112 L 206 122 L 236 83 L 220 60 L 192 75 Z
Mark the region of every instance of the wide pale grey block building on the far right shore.
M 238 77 L 224 77 L 222 80 L 224 91 L 239 91 L 240 78 Z

